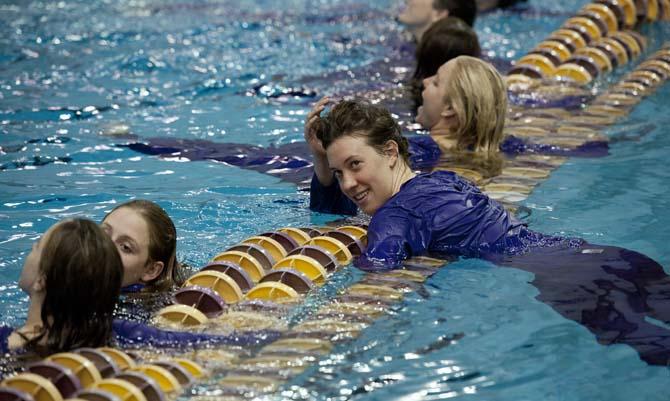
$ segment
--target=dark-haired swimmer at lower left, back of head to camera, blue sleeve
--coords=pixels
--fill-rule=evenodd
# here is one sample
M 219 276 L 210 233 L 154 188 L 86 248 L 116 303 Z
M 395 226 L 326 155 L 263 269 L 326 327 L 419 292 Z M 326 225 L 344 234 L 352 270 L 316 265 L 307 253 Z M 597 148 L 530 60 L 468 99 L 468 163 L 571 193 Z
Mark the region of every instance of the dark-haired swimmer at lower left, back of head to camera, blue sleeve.
M 18 329 L 0 327 L 0 354 L 45 356 L 116 344 L 256 344 L 279 335 L 271 331 L 199 334 L 115 319 L 123 274 L 116 245 L 100 226 L 87 219 L 56 223 L 26 257 L 19 287 L 30 297 L 27 319 Z

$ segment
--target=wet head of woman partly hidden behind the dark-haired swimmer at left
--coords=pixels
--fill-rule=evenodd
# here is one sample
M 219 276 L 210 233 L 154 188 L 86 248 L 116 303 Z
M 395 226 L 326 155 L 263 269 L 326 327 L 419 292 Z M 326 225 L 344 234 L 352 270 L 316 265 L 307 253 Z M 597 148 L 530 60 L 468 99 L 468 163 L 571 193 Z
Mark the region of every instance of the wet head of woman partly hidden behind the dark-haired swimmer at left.
M 124 286 L 141 283 L 146 291 L 165 291 L 183 283 L 177 230 L 156 203 L 143 199 L 123 203 L 105 216 L 102 227 L 121 255 Z

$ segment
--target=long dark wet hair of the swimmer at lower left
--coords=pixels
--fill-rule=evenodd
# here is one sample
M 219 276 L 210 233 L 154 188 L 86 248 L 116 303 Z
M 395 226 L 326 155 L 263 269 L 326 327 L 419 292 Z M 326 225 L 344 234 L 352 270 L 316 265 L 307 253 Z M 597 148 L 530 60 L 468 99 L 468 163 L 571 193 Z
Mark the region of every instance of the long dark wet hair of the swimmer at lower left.
M 42 327 L 26 349 L 45 355 L 109 345 L 123 279 L 114 242 L 87 219 L 63 221 L 45 239 L 38 268 Z

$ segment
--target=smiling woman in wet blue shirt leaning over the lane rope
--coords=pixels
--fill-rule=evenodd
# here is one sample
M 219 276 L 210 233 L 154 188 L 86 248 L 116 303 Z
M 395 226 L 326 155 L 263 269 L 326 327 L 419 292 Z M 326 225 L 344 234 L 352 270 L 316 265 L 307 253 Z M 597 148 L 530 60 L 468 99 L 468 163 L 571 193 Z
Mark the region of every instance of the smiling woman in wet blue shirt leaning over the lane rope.
M 670 321 L 670 277 L 652 259 L 534 232 L 453 172 L 414 173 L 406 139 L 379 107 L 344 101 L 321 117 L 317 105 L 305 138 L 315 159 L 310 208 L 371 216 L 367 249 L 356 266 L 383 271 L 429 254 L 520 268 L 535 274 L 539 300 L 600 342 L 626 343 L 651 364 L 670 362 L 670 330 L 648 321 Z M 487 149 L 493 142 L 473 146 Z

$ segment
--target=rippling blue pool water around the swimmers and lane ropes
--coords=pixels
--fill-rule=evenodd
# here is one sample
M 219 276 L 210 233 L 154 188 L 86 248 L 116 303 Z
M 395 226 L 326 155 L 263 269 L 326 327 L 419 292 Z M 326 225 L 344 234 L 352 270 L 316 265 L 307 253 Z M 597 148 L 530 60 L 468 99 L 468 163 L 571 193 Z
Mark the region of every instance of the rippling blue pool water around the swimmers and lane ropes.
M 180 258 L 196 266 L 261 231 L 325 222 L 295 185 L 141 155 L 115 146 L 126 139 L 112 134 L 299 141 L 316 97 L 393 85 L 393 74 L 370 66 L 411 68 L 397 50 L 399 3 L 0 4 L 0 324 L 25 317 L 16 286 L 23 258 L 64 217 L 100 220 L 132 197 L 155 200 L 175 220 Z M 485 15 L 476 28 L 489 57 L 513 60 L 584 3 L 531 0 L 530 11 Z M 652 48 L 670 38 L 667 24 L 645 33 Z M 291 90 L 299 96 L 281 96 Z M 530 227 L 630 248 L 670 273 L 669 97 L 665 85 L 608 130 L 609 157 L 554 171 L 523 203 Z M 625 345 L 599 345 L 535 300 L 531 280 L 480 260 L 450 264 L 277 398 L 667 399 L 667 367 L 648 366 Z

